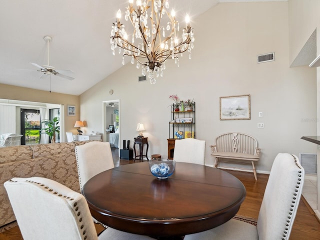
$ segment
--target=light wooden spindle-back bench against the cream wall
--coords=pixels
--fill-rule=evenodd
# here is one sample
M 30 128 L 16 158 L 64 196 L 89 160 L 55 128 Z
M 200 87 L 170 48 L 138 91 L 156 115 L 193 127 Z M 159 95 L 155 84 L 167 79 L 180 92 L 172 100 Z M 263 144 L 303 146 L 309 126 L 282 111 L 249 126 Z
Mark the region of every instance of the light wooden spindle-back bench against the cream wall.
M 252 171 L 255 180 L 256 171 L 254 162 L 259 160 L 260 148 L 257 147 L 256 139 L 250 135 L 240 132 L 227 132 L 218 135 L 215 138 L 214 145 L 211 147 L 211 156 L 215 157 L 214 167 L 219 168 L 219 161 L 236 162 L 236 163 L 252 163 Z M 233 159 L 236 159 L 234 161 Z M 248 162 L 249 161 L 249 162 Z M 231 166 L 232 167 L 232 166 Z M 223 168 L 223 167 L 221 167 Z M 232 167 L 238 169 L 246 169 L 240 167 Z

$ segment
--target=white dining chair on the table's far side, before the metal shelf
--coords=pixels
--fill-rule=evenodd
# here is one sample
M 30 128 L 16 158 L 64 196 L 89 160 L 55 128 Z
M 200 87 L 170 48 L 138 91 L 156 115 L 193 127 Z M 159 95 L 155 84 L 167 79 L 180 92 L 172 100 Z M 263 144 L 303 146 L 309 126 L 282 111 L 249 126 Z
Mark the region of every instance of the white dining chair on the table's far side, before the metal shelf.
M 173 160 L 204 165 L 205 141 L 183 138 L 174 141 Z

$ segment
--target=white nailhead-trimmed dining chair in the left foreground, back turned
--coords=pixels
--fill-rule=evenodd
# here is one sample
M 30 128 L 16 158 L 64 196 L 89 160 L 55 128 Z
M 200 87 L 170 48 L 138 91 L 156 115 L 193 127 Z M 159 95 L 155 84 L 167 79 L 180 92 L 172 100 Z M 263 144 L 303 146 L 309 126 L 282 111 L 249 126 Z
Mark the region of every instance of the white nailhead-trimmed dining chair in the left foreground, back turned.
M 14 177 L 4 187 L 24 240 L 152 239 L 110 227 L 97 236 L 84 196 L 54 180 Z

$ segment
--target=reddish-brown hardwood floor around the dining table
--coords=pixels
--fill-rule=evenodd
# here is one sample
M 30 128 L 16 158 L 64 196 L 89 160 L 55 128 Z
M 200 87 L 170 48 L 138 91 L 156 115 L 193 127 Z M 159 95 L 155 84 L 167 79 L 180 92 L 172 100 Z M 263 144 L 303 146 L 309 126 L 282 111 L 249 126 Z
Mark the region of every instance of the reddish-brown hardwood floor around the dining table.
M 114 166 L 133 163 L 133 160 L 123 160 L 118 157 L 118 149 L 112 148 Z M 135 160 L 139 162 L 139 160 Z M 265 185 L 268 180 L 268 175 L 258 174 L 258 180 L 255 181 L 252 173 L 241 171 L 228 171 L 239 178 L 245 188 L 246 197 L 237 214 L 257 218 L 261 205 Z M 303 197 L 302 197 L 303 198 Z M 96 224 L 97 232 L 100 232 L 103 227 Z M 23 239 L 18 227 L 11 228 L 0 233 L 0 240 L 21 240 Z M 308 207 L 303 199 L 300 200 L 297 214 L 293 223 L 290 240 L 318 240 L 320 239 L 320 222 L 316 219 L 314 212 Z

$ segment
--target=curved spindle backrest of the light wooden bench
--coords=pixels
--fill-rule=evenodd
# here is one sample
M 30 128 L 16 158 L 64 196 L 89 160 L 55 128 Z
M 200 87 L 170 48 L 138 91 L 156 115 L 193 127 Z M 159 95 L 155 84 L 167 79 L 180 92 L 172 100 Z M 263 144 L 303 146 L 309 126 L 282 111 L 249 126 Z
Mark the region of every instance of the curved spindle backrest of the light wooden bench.
M 240 132 L 227 132 L 215 138 L 216 151 L 243 152 L 255 155 L 258 143 L 253 136 Z

